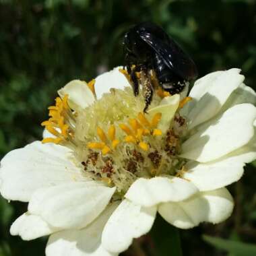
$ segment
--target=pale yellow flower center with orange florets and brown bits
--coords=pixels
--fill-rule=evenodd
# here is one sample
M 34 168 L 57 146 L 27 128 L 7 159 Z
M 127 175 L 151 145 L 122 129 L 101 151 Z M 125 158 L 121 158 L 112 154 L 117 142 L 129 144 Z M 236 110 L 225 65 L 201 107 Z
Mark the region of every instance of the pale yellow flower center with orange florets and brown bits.
M 150 107 L 161 100 L 156 94 Z M 177 175 L 185 164 L 178 155 L 186 120 L 177 111 L 167 129 L 161 129 L 162 113 L 143 114 L 143 104 L 143 96 L 134 97 L 131 88 L 113 89 L 76 112 L 67 95 L 57 98 L 49 107 L 49 121 L 42 123 L 55 137 L 42 142 L 71 148 L 84 177 L 117 187 L 119 195 L 139 177 Z

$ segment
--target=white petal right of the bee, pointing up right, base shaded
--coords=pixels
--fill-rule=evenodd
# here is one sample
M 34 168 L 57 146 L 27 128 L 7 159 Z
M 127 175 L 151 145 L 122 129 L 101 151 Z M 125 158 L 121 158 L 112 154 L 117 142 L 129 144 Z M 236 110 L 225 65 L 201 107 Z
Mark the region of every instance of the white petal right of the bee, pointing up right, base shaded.
M 214 117 L 230 94 L 243 83 L 245 77 L 239 74 L 240 69 L 229 69 L 219 75 L 211 75 L 213 79 L 199 79 L 195 83 L 190 96 L 197 100 L 189 113 L 189 129 Z M 206 84 L 207 83 L 207 84 Z M 197 92 L 197 93 L 195 93 Z M 201 93 L 204 93 L 201 95 Z

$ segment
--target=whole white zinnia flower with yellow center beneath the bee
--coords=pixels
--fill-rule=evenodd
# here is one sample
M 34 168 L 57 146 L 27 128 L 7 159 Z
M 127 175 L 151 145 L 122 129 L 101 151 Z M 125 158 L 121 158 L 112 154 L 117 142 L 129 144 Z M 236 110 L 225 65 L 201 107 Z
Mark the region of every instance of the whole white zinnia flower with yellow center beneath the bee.
M 256 158 L 256 94 L 239 73 L 205 75 L 187 104 L 155 94 L 148 115 L 118 69 L 67 84 L 43 123 L 54 136 L 1 161 L 1 195 L 28 202 L 11 234 L 51 234 L 48 256 L 110 256 L 148 232 L 156 212 L 178 228 L 226 220 L 225 186 Z

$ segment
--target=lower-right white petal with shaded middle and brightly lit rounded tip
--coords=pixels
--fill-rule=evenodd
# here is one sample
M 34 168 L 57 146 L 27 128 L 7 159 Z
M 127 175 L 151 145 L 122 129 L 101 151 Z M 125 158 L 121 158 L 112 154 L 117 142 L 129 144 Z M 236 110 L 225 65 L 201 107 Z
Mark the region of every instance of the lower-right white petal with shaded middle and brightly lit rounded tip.
M 232 196 L 227 189 L 201 192 L 179 203 L 162 203 L 158 212 L 177 228 L 193 228 L 201 222 L 217 224 L 228 218 L 233 210 Z

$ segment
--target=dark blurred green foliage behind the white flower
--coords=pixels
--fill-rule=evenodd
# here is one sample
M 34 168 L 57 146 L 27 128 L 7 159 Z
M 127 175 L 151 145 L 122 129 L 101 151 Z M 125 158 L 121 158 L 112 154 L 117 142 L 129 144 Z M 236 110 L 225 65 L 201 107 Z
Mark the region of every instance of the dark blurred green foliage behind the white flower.
M 71 79 L 89 80 L 122 65 L 124 32 L 146 20 L 160 24 L 183 46 L 200 76 L 240 67 L 246 84 L 256 88 L 253 0 L 0 0 L 0 158 L 40 139 L 40 122 L 58 88 Z M 226 238 L 235 234 L 239 241 L 255 242 L 253 171 L 249 166 L 243 181 L 230 187 L 236 201 L 232 218 L 181 232 L 183 255 L 223 255 L 203 243 L 203 233 Z M 22 242 L 8 234 L 11 222 L 25 210 L 23 203 L 0 199 L 0 256 L 44 255 L 44 238 Z M 168 230 L 159 235 L 166 241 L 163 252 L 172 237 Z M 154 241 L 146 241 L 144 247 L 156 247 Z

